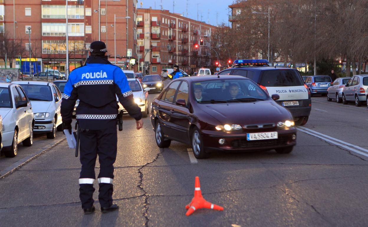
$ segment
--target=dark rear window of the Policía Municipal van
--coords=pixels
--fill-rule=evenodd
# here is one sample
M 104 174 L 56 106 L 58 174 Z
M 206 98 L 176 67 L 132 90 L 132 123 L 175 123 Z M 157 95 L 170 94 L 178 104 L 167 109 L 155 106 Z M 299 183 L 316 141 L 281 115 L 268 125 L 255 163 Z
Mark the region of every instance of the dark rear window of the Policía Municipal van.
M 303 81 L 296 70 L 265 70 L 261 83 L 265 87 L 303 86 Z

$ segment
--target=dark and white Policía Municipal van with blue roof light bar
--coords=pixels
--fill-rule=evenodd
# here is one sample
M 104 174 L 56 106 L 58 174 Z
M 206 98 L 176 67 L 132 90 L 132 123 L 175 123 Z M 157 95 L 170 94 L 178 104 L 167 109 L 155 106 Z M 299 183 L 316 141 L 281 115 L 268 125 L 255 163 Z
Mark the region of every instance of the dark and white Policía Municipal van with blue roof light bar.
M 217 75 L 240 75 L 256 82 L 270 96 L 277 94 L 276 102 L 286 107 L 296 125 L 307 123 L 311 113 L 311 93 L 299 71 L 293 68 L 270 67 L 268 60 L 235 60 L 233 67 Z

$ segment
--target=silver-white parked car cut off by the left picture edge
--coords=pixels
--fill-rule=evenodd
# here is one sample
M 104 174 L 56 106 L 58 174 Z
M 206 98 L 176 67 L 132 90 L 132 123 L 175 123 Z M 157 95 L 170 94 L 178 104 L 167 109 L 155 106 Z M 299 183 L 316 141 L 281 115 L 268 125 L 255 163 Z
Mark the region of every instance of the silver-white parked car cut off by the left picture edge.
M 6 157 L 15 157 L 20 142 L 23 146 L 32 146 L 35 124 L 31 102 L 19 85 L 0 83 L 0 115 L 3 118 L 2 151 Z

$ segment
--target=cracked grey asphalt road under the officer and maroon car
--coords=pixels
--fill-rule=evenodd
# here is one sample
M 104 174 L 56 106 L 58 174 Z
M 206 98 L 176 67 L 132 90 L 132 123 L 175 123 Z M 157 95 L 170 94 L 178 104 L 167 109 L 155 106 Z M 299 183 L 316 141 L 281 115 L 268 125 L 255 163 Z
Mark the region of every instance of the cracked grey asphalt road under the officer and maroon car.
M 365 106 L 313 97 L 286 155 L 217 152 L 195 160 L 188 145 L 159 149 L 149 118 L 137 131 L 124 117 L 123 127 L 113 196 L 120 210 L 101 214 L 95 192 L 97 212 L 83 215 L 79 160 L 63 141 L 0 179 L 0 226 L 368 226 Z M 223 211 L 185 216 L 195 176 L 204 198 Z

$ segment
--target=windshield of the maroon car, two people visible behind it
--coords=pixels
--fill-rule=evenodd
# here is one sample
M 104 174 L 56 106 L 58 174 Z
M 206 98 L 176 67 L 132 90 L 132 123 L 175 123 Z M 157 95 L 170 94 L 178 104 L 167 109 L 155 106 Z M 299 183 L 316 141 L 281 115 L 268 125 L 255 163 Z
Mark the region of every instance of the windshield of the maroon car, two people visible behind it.
M 194 82 L 192 93 L 199 103 L 254 102 L 268 95 L 250 79 L 217 79 Z

